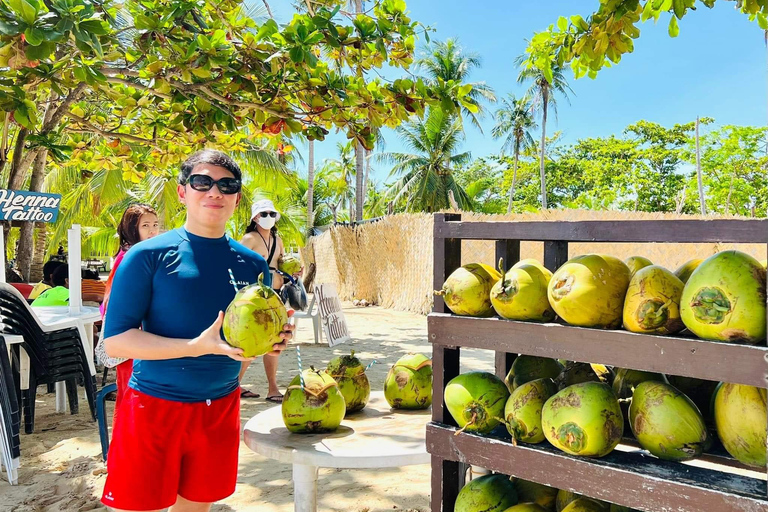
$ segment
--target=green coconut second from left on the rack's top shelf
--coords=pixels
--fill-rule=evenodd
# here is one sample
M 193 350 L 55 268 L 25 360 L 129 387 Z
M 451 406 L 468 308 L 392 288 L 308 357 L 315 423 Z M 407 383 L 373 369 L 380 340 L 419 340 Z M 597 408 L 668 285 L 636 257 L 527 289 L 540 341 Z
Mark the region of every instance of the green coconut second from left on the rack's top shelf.
M 499 270 L 504 272 L 503 262 Z M 491 304 L 500 317 L 524 322 L 550 322 L 555 311 L 549 305 L 547 286 L 552 272 L 541 265 L 515 265 L 491 289 Z

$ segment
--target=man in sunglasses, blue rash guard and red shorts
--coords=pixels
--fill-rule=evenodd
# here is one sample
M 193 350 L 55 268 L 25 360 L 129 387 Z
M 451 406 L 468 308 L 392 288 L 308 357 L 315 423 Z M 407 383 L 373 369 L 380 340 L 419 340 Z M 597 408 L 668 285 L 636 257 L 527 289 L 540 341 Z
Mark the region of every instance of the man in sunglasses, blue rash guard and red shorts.
M 178 185 L 186 224 L 136 244 L 115 274 L 104 349 L 134 366 L 101 499 L 112 510 L 207 512 L 235 490 L 238 373 L 249 359 L 222 340 L 222 312 L 233 284 L 270 280 L 264 259 L 225 234 L 240 189 L 240 168 L 227 155 L 190 156 Z M 275 352 L 293 326 L 280 336 Z

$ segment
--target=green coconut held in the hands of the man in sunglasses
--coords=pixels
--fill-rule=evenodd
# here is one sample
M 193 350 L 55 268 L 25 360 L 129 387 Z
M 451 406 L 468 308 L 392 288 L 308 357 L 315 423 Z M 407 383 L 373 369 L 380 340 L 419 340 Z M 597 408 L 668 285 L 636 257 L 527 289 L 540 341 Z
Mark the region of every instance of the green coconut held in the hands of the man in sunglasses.
M 257 357 L 272 352 L 272 345 L 282 342 L 280 333 L 288 323 L 288 312 L 280 297 L 258 282 L 241 288 L 224 313 L 224 339 L 243 349 L 243 357 Z

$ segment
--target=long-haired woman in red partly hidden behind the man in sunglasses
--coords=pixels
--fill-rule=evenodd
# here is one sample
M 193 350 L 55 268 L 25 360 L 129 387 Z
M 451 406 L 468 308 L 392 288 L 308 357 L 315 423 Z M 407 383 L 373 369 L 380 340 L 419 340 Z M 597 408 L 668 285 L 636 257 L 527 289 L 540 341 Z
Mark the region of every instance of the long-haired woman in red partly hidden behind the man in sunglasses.
M 120 263 L 123 261 L 125 253 L 134 245 L 144 240 L 154 238 L 160 232 L 160 221 L 157 212 L 146 204 L 132 204 L 123 212 L 120 224 L 117 226 L 117 236 L 120 240 L 120 247 L 115 254 L 115 263 L 109 273 L 104 290 L 104 300 L 101 303 L 101 317 L 104 318 L 109 304 L 109 293 L 112 289 L 112 282 L 115 278 Z M 125 390 L 128 389 L 128 381 L 133 372 L 133 359 L 115 359 L 109 358 L 103 353 L 103 344 L 99 341 L 96 347 L 99 359 L 108 368 L 117 368 L 117 392 L 115 393 L 115 416 L 120 407 L 120 402 Z M 114 419 L 113 419 L 114 421 Z

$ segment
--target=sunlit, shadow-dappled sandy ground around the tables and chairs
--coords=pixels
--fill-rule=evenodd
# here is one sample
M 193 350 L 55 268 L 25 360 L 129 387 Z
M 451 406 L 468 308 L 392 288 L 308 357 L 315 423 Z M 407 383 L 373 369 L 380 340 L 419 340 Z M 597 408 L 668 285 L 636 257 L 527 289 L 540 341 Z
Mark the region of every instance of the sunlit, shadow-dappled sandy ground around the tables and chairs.
M 379 361 L 368 370 L 372 389 L 383 389 L 384 378 L 401 355 L 431 354 L 427 343 L 426 317 L 379 307 L 355 308 L 345 304 L 345 314 L 354 342 L 330 349 L 315 345 L 311 321 L 299 322 L 296 343 L 301 346 L 304 367 L 324 368 L 337 355 L 354 348 L 364 363 Z M 462 367 L 492 370 L 493 355 L 485 351 L 462 351 Z M 279 385 L 284 389 L 298 371 L 295 345 L 280 359 Z M 114 374 L 111 374 L 114 378 Z M 100 381 L 100 377 L 99 377 Z M 256 413 L 274 406 L 264 401 L 266 377 L 260 361 L 245 375 L 244 385 L 262 398 L 242 401 L 242 424 Z M 105 510 L 98 501 L 106 478 L 96 423 L 81 400 L 80 414 L 56 414 L 54 395 L 40 387 L 35 433 L 22 434 L 19 485 L 0 481 L 0 511 L 89 511 Z M 112 402 L 107 413 L 111 417 Z M 2 476 L 5 476 L 2 474 Z M 430 467 L 408 466 L 390 470 L 321 469 L 318 508 L 321 511 L 426 511 L 429 507 Z M 291 467 L 253 453 L 240 444 L 240 470 L 235 494 L 214 505 L 214 511 L 293 510 Z

